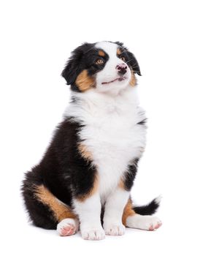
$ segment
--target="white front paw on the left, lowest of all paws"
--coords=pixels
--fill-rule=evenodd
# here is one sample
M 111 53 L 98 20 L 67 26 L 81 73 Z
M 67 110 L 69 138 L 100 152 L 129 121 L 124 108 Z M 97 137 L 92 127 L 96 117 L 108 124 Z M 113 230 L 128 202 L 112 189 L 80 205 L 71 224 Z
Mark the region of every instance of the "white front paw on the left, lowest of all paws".
M 81 236 L 85 240 L 101 240 L 105 238 L 102 227 L 80 228 Z

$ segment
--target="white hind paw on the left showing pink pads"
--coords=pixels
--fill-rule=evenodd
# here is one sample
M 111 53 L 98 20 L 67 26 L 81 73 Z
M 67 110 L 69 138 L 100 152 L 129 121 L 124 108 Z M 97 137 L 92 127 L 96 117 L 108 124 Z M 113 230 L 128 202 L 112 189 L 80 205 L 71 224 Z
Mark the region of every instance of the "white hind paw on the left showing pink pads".
M 77 233 L 79 222 L 77 219 L 63 219 L 57 225 L 59 236 L 71 236 Z

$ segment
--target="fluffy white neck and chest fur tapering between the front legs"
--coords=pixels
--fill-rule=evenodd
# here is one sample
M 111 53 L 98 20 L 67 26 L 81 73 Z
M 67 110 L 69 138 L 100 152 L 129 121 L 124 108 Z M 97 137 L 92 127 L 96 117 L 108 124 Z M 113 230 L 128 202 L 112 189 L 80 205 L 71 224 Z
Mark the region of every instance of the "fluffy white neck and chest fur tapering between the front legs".
M 100 195 L 106 197 L 145 148 L 145 127 L 137 124 L 145 113 L 134 88 L 115 97 L 94 90 L 74 96 L 77 103 L 70 103 L 64 116 L 74 116 L 85 125 L 80 138 L 91 151 L 99 172 Z

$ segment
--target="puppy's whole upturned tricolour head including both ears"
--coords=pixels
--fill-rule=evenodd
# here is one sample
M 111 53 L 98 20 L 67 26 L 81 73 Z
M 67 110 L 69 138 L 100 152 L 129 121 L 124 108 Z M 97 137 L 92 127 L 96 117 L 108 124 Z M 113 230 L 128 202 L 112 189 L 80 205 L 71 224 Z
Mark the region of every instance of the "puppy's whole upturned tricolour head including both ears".
M 85 43 L 72 52 L 62 72 L 74 91 L 120 91 L 141 75 L 134 55 L 120 42 Z

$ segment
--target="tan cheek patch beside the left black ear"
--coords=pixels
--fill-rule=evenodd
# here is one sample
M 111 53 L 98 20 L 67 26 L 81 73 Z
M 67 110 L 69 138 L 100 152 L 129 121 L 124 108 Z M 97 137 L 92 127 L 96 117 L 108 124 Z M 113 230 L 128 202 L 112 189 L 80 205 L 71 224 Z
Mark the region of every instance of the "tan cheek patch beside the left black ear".
M 88 75 L 88 71 L 84 69 L 80 74 L 77 76 L 75 81 L 80 91 L 87 91 L 95 86 L 95 80 Z

